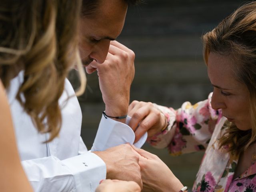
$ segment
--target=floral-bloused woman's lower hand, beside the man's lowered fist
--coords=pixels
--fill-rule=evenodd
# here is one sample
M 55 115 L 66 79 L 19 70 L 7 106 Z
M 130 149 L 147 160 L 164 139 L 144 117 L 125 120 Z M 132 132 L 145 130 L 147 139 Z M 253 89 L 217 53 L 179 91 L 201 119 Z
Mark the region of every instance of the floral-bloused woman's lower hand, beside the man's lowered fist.
M 184 187 L 158 156 L 135 146 L 132 147 L 140 154 L 139 165 L 143 182 L 142 192 L 178 192 Z

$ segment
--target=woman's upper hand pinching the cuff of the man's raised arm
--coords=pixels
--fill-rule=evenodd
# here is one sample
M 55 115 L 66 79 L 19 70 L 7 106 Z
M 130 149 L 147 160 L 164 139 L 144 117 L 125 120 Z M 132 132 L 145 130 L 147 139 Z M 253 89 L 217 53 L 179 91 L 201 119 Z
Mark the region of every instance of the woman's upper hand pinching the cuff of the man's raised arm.
M 135 132 L 135 143 L 148 132 L 148 137 L 154 136 L 168 122 L 164 114 L 151 102 L 133 101 L 128 108 L 128 115 L 132 117 L 129 126 Z

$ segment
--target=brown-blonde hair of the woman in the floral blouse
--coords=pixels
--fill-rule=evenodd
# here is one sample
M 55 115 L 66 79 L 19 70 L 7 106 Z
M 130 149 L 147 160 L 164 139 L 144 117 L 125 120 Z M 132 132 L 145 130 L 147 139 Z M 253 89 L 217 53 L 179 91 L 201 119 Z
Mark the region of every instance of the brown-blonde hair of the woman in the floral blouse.
M 220 139 L 220 147 L 228 145 L 238 155 L 256 140 L 256 2 L 238 8 L 202 39 L 206 64 L 210 52 L 230 56 L 235 78 L 250 92 L 252 128 L 242 131 L 226 122 L 227 132 Z

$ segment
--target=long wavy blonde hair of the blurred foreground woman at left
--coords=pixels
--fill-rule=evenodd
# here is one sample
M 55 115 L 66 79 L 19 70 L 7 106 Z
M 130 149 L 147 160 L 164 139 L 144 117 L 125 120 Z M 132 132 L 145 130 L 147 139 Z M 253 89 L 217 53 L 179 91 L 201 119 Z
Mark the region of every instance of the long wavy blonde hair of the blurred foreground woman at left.
M 24 70 L 17 98 L 39 132 L 54 139 L 61 127 L 58 100 L 70 68 L 78 68 L 80 89 L 86 78 L 78 52 L 81 0 L 4 0 L 0 4 L 0 78 Z M 24 98 L 22 98 L 22 95 Z

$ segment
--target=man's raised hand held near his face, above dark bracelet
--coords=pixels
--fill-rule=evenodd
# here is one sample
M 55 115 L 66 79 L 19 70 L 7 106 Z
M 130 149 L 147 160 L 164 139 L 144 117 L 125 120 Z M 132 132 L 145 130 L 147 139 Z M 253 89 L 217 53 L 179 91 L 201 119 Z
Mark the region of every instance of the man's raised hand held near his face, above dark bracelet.
M 130 100 L 130 86 L 134 78 L 135 54 L 117 41 L 111 41 L 104 63 L 95 60 L 86 67 L 86 72 L 98 72 L 102 98 L 108 116 L 127 114 Z

